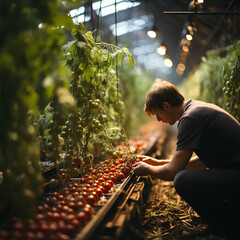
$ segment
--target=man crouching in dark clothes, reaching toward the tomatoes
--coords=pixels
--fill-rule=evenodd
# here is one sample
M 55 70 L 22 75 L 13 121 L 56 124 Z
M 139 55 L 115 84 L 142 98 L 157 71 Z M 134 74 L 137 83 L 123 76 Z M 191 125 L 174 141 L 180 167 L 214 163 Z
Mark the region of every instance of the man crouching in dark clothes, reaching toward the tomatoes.
M 240 227 L 240 124 L 214 104 L 185 101 L 166 81 L 152 85 L 144 111 L 170 125 L 178 121 L 177 147 L 171 160 L 142 156 L 134 172 L 173 180 L 178 194 L 215 231 L 231 236 Z

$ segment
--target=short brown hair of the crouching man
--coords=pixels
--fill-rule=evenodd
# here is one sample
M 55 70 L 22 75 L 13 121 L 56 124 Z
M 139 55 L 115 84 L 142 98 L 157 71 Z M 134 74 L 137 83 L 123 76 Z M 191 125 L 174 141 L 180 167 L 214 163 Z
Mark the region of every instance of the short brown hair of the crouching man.
M 168 102 L 172 107 L 179 107 L 183 101 L 183 95 L 172 83 L 157 79 L 147 93 L 144 111 L 151 117 L 152 110 L 162 109 L 164 102 Z

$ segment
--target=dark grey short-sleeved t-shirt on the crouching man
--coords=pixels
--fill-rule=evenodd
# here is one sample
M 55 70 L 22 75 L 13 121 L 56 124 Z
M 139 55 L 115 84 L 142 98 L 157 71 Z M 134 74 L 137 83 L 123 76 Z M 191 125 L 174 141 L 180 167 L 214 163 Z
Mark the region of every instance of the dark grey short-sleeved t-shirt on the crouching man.
M 214 104 L 188 100 L 177 138 L 177 151 L 192 150 L 209 168 L 240 169 L 240 124 Z

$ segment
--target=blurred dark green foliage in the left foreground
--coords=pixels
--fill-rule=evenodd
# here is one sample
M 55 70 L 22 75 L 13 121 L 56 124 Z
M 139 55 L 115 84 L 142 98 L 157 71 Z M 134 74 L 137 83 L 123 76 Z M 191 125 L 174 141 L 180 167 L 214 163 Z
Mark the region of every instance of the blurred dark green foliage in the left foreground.
M 38 114 L 51 97 L 41 86 L 47 76 L 53 82 L 62 79 L 58 69 L 66 35 L 61 26 L 67 29 L 72 25 L 63 3 L 0 3 L 1 219 L 30 216 L 42 194 L 39 143 L 28 112 L 31 109 Z

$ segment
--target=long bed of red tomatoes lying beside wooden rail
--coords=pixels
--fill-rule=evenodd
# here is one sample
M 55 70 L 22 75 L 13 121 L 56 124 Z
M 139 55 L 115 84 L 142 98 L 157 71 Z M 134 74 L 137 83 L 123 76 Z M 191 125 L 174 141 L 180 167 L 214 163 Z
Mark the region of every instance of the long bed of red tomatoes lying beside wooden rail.
M 121 182 L 130 173 L 136 161 L 140 160 L 124 156 L 90 168 L 89 174 L 46 197 L 33 218 L 13 219 L 11 231 L 0 231 L 0 239 L 71 239 L 92 218 L 94 205 L 111 190 L 114 182 Z

